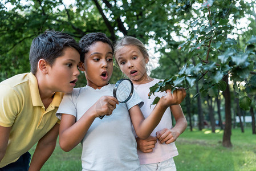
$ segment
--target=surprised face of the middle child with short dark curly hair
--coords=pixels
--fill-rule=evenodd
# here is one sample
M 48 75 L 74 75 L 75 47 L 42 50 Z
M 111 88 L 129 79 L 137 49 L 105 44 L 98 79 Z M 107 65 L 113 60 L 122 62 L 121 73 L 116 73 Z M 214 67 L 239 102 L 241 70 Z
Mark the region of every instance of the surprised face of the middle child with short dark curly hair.
M 81 70 L 84 71 L 87 85 L 98 88 L 108 84 L 113 72 L 113 52 L 107 43 L 96 42 L 85 54 Z

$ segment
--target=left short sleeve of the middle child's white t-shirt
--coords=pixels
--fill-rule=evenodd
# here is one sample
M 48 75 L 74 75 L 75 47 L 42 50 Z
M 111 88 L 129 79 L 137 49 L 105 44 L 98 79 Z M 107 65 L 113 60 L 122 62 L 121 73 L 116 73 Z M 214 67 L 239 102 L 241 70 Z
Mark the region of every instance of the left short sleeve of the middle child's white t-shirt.
M 58 111 L 56 112 L 56 116 L 58 119 L 61 119 L 62 113 L 73 115 L 76 117 L 76 105 L 74 100 L 74 92 L 65 93 L 63 96 L 62 102 L 59 105 Z

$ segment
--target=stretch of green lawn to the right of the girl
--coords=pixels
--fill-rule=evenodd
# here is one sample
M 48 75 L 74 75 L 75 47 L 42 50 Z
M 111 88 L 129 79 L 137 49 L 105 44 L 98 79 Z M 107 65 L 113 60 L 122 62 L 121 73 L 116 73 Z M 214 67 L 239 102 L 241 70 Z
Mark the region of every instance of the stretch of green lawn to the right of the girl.
M 179 155 L 174 157 L 177 170 L 256 170 L 256 135 L 251 129 L 233 129 L 232 148 L 222 146 L 223 131 L 210 133 L 190 132 L 188 129 L 178 138 Z

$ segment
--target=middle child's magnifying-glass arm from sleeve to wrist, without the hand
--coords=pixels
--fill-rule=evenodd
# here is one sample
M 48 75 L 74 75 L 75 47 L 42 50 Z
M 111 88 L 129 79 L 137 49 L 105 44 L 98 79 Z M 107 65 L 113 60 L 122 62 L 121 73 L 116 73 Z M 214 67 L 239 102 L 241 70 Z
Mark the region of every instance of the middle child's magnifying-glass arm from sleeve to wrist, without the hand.
M 75 148 L 75 146 L 83 140 L 88 129 L 91 127 L 91 124 L 95 120 L 93 111 L 91 111 L 90 109 L 86 113 L 84 113 L 84 115 L 77 122 L 66 122 L 65 120 L 69 120 L 67 117 L 70 116 L 66 115 L 66 119 L 62 118 L 62 120 L 60 121 L 59 133 L 60 147 L 66 152 Z

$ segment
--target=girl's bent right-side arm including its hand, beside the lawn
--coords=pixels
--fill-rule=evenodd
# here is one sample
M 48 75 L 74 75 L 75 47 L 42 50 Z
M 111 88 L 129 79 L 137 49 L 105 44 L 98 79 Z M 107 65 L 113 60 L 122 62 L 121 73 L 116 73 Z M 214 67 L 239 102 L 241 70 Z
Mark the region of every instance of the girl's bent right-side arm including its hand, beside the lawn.
M 176 124 L 172 129 L 164 128 L 161 131 L 156 132 L 156 137 L 161 144 L 170 144 L 176 141 L 178 136 L 185 131 L 188 125 L 180 105 L 170 106 L 170 111 L 172 111 Z

